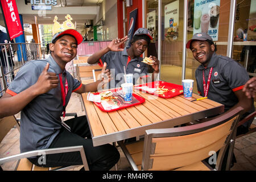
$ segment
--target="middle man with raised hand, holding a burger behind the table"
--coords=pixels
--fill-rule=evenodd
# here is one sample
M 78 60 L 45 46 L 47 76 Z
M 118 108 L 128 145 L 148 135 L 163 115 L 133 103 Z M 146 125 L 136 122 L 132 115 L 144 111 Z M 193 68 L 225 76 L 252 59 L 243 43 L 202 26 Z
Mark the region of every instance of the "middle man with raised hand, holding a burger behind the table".
M 103 65 L 107 63 L 107 68 L 110 69 L 112 77 L 115 78 L 113 81 L 109 82 L 109 88 L 121 86 L 121 84 L 125 82 L 123 79 L 125 72 L 126 74 L 131 73 L 134 75 L 134 84 L 139 77 L 147 77 L 148 67 L 147 64 L 142 63 L 143 58 L 141 55 L 146 51 L 150 40 L 152 40 L 150 32 L 146 28 L 138 28 L 131 39 L 131 47 L 120 48 L 126 40 L 127 36 L 122 39 L 114 39 L 107 47 L 88 58 L 87 63 L 89 64 L 98 63 Z M 150 59 L 154 60 L 152 65 L 154 69 L 152 73 L 153 81 L 155 75 L 159 73 L 159 60 L 155 56 L 150 56 Z

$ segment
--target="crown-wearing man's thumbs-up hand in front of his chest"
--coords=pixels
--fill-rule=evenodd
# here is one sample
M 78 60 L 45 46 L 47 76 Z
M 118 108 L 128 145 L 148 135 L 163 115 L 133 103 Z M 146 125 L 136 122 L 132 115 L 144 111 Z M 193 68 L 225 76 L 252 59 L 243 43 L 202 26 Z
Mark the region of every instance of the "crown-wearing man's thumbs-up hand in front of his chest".
M 35 88 L 38 90 L 38 95 L 47 93 L 49 90 L 56 88 L 59 84 L 59 78 L 56 73 L 48 72 L 49 63 L 44 67 L 38 81 L 35 84 Z

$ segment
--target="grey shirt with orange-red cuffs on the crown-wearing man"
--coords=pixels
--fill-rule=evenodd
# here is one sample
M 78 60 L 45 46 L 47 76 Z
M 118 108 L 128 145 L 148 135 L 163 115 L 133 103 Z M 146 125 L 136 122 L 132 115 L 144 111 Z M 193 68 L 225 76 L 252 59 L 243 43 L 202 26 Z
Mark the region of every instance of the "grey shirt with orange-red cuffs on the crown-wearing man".
M 72 77 L 67 71 L 62 71 L 52 56 L 46 60 L 28 61 L 19 69 L 13 82 L 6 93 L 15 96 L 34 85 L 46 64 L 49 63 L 48 72 L 62 76 L 63 85 L 68 82 L 68 92 L 65 97 L 65 105 L 71 97 L 71 93 L 80 89 L 82 84 Z M 48 148 L 52 140 L 61 128 L 60 115 L 63 113 L 63 101 L 61 98 L 60 83 L 57 88 L 41 94 L 32 100 L 21 111 L 20 115 L 20 151 L 32 151 Z

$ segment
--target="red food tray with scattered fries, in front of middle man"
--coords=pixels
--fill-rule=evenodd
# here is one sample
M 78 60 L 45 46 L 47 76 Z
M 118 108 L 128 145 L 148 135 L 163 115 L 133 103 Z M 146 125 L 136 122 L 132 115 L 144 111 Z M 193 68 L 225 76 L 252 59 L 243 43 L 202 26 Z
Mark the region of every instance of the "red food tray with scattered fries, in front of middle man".
M 146 88 L 141 88 L 142 86 L 147 86 L 148 88 L 157 88 L 158 86 L 162 88 L 164 86 L 164 89 L 168 89 L 168 92 L 164 92 L 163 94 L 155 93 L 153 90 L 147 90 Z M 148 82 L 146 84 L 136 85 L 134 86 L 135 89 L 142 90 L 143 92 L 153 94 L 155 96 L 163 97 L 163 98 L 171 98 L 178 96 L 180 94 L 183 94 L 183 86 L 177 85 L 177 84 L 171 84 L 169 82 L 165 81 L 154 81 L 154 82 Z M 173 89 L 174 92 L 172 91 Z

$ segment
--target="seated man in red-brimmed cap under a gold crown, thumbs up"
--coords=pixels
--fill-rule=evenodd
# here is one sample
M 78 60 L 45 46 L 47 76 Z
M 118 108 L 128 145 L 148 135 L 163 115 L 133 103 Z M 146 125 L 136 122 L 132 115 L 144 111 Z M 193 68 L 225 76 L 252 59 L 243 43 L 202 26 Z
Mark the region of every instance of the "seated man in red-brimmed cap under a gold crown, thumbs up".
M 76 30 L 58 32 L 49 45 L 46 60 L 28 61 L 19 69 L 0 99 L 0 118 L 21 111 L 20 152 L 68 146 L 84 146 L 90 170 L 109 170 L 119 160 L 119 152 L 105 144 L 93 147 L 85 116 L 61 121 L 72 92 L 96 91 L 102 81 L 110 81 L 109 70 L 102 69 L 101 80 L 83 85 L 65 70 L 77 53 L 82 36 Z M 86 139 L 85 139 L 86 138 Z M 44 158 L 44 159 L 43 159 Z M 82 164 L 79 152 L 37 156 L 28 159 L 36 166 L 57 167 Z

